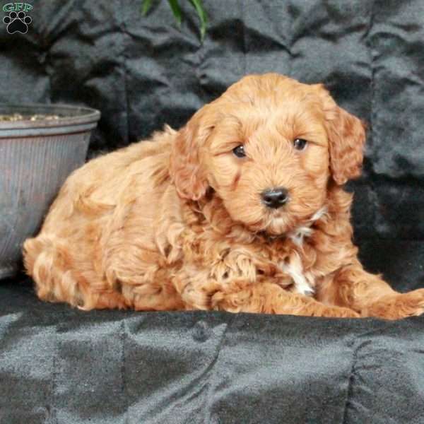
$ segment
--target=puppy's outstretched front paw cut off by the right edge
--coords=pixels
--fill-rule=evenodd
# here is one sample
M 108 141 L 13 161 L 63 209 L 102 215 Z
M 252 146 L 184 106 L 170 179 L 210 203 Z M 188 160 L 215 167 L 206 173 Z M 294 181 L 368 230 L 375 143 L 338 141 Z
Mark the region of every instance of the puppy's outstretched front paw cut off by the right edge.
M 370 305 L 363 311 L 365 317 L 384 319 L 401 319 L 413 317 L 424 312 L 424 289 L 413 290 L 409 293 L 387 295 Z

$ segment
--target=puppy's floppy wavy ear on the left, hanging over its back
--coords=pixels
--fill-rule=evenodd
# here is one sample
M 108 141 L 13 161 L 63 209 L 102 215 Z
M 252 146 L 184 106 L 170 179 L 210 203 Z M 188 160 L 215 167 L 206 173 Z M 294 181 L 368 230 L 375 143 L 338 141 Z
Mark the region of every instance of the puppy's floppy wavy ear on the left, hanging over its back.
M 213 123 L 204 122 L 206 107 L 194 114 L 188 124 L 179 130 L 172 145 L 170 175 L 179 196 L 199 200 L 206 194 L 208 180 L 201 151 L 213 129 Z

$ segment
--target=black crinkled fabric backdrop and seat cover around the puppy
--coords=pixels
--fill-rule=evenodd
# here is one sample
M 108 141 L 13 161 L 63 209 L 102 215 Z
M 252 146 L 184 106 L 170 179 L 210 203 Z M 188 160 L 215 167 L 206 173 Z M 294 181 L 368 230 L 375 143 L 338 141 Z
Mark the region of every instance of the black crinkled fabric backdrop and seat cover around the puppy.
M 246 73 L 324 82 L 369 126 L 348 187 L 360 257 L 424 286 L 423 1 L 204 0 L 203 45 L 188 2 L 180 31 L 166 1 L 146 18 L 140 0 L 28 3 L 26 35 L 0 22 L 0 102 L 98 108 L 90 157 L 182 126 Z M 424 422 L 421 318 L 84 314 L 18 280 L 0 283 L 1 424 Z

